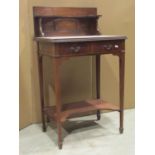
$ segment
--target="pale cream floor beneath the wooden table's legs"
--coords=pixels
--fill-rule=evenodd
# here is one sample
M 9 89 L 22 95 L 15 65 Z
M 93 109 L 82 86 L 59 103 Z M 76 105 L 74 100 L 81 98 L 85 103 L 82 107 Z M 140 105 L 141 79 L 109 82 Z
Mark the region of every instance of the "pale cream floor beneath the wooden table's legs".
M 20 131 L 20 155 L 134 155 L 134 110 L 125 110 L 124 134 L 118 120 L 118 112 L 102 113 L 99 121 L 95 115 L 68 120 L 62 150 L 54 125 L 43 133 L 41 124 L 33 124 Z

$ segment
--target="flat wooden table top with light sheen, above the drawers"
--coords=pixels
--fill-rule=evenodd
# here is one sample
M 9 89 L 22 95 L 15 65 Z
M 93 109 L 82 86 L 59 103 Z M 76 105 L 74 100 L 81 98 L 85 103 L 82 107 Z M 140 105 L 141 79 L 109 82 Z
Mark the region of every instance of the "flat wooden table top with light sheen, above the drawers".
M 84 36 L 54 36 L 54 37 L 35 37 L 38 42 L 87 42 L 87 41 L 103 41 L 103 40 L 124 40 L 127 39 L 124 35 L 84 35 Z

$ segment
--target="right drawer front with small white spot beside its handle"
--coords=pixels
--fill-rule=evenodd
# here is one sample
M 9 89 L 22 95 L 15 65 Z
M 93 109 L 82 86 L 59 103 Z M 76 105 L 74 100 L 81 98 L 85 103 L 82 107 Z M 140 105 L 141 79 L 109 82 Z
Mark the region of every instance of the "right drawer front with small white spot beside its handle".
M 93 44 L 93 52 L 95 53 L 115 53 L 124 50 L 123 41 L 99 41 Z

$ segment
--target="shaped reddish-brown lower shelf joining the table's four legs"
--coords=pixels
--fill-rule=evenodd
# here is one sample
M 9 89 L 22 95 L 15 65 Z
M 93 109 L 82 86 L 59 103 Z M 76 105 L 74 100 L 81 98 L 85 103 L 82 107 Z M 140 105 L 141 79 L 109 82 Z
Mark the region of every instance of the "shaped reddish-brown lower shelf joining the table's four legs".
M 120 111 L 118 106 L 101 99 L 85 100 L 81 102 L 64 104 L 62 106 L 60 120 L 61 122 L 64 122 L 68 117 L 71 117 L 74 114 L 80 114 L 94 110 Z M 56 106 L 47 106 L 44 108 L 44 112 L 51 119 L 57 120 L 58 115 L 56 113 Z

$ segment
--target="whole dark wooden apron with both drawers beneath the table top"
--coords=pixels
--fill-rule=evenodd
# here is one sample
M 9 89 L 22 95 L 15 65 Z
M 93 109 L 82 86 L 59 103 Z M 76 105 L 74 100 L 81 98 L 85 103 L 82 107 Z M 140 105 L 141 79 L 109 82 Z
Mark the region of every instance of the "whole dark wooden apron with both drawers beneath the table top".
M 52 57 L 84 56 L 96 54 L 115 54 L 125 49 L 124 40 L 41 43 L 40 54 Z

